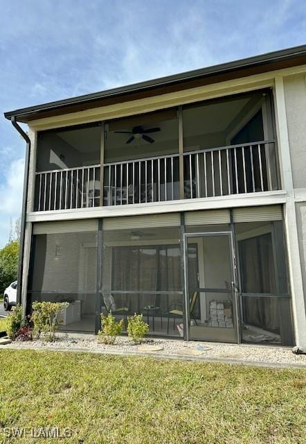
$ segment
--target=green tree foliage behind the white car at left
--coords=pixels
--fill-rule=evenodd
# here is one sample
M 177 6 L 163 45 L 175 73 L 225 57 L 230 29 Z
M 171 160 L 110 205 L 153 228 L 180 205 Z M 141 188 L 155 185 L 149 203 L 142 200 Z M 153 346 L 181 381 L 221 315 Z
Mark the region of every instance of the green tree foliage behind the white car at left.
M 0 250 L 0 294 L 17 280 L 19 241 L 10 241 Z

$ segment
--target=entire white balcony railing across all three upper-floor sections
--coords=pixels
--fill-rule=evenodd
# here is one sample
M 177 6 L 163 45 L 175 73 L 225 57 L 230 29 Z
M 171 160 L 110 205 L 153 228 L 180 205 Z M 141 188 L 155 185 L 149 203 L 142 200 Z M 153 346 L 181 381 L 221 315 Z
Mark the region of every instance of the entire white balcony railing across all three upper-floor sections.
M 275 148 L 274 141 L 263 141 L 111 162 L 104 164 L 102 189 L 100 165 L 42 171 L 36 173 L 35 210 L 270 191 L 278 188 Z

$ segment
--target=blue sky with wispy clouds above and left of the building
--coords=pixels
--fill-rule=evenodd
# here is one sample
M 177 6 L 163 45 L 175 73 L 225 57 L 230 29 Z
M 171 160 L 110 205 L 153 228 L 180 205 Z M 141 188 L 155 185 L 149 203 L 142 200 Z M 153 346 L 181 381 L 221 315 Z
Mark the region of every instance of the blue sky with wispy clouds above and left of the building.
M 4 111 L 305 43 L 303 0 L 2 1 L 0 247 L 24 169 Z

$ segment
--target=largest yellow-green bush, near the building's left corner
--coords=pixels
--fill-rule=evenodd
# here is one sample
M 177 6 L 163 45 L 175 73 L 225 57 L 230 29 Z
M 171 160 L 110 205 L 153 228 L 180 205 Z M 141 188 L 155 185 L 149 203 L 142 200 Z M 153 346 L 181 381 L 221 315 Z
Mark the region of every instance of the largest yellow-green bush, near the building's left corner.
M 40 334 L 44 332 L 46 341 L 55 341 L 55 332 L 60 324 L 58 316 L 68 305 L 69 302 L 33 302 L 31 321 L 34 325 L 33 333 L 36 339 L 39 339 Z

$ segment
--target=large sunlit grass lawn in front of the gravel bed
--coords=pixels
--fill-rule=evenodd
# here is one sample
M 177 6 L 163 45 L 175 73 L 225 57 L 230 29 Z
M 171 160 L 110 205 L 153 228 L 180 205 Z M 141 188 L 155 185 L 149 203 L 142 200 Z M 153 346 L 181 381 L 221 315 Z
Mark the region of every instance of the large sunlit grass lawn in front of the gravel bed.
M 0 350 L 1 427 L 71 427 L 10 443 L 305 443 L 306 372 Z

